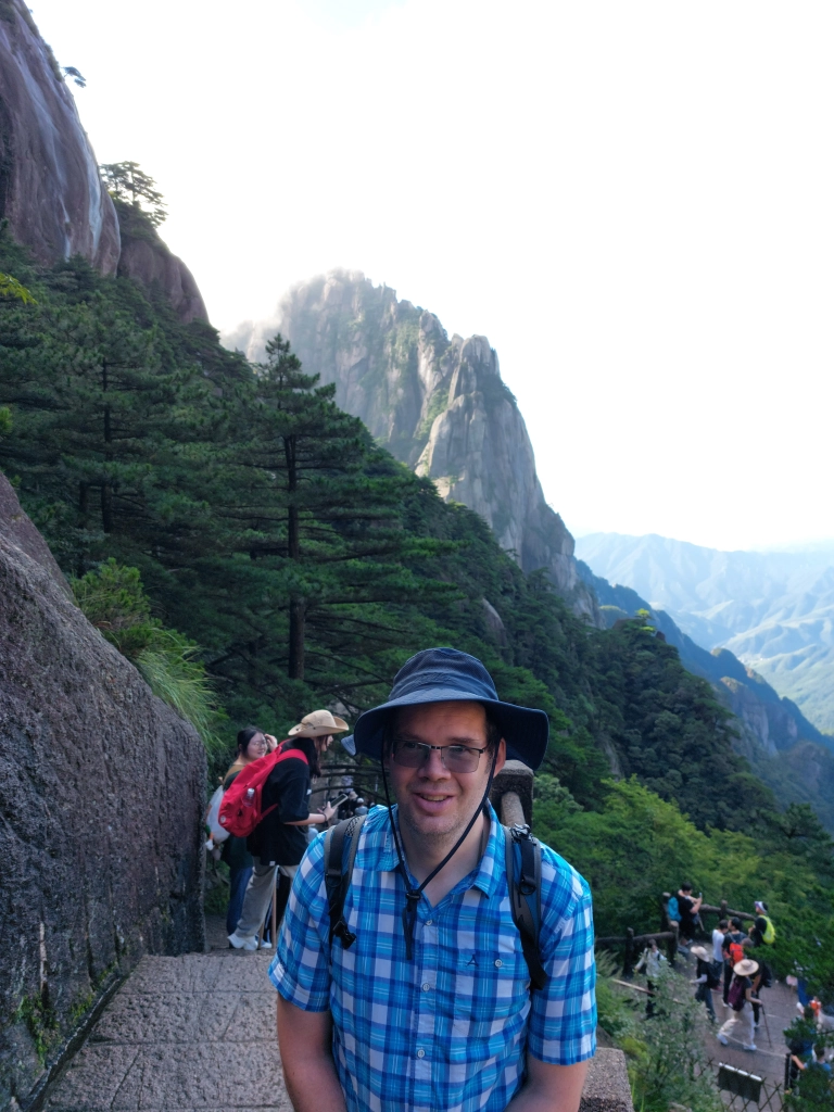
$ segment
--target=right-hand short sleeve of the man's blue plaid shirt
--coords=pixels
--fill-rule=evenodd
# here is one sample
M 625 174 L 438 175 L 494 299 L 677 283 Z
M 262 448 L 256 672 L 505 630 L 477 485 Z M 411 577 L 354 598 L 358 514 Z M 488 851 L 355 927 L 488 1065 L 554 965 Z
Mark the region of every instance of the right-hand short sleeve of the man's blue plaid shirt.
M 532 994 L 527 1049 L 574 1065 L 596 1052 L 594 915 L 585 880 L 552 853 L 542 862 L 539 950 L 548 976 Z

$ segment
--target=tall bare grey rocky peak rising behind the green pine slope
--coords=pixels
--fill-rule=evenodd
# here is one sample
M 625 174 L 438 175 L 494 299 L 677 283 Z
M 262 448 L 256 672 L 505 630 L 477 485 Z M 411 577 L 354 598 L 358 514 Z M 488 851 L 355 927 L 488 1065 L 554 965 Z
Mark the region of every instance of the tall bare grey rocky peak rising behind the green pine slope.
M 297 286 L 275 320 L 242 326 L 226 342 L 259 359 L 276 331 L 398 459 L 480 514 L 526 572 L 546 568 L 596 619 L 574 539 L 545 502 L 524 418 L 484 336 L 449 339 L 434 314 L 340 270 Z

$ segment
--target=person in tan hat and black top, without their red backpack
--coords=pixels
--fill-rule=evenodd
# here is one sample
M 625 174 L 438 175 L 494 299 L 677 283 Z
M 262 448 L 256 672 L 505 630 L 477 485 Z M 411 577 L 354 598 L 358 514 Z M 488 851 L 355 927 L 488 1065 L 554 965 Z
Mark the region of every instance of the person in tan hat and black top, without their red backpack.
M 277 764 L 264 785 L 264 818 L 255 833 L 246 840 L 246 847 L 255 858 L 252 875 L 244 897 L 244 907 L 229 943 L 235 950 L 257 950 L 258 933 L 269 909 L 276 870 L 288 886 L 296 875 L 307 848 L 307 826 L 328 823 L 335 814 L 326 804 L 320 812 L 310 813 L 310 776 L 320 775 L 320 756 L 332 742 L 334 734 L 342 734 L 348 724 L 329 711 L 307 714 L 288 733 L 280 744 L 282 752 L 298 751 Z M 274 810 L 267 810 L 272 807 Z M 285 902 L 286 902 L 285 894 Z

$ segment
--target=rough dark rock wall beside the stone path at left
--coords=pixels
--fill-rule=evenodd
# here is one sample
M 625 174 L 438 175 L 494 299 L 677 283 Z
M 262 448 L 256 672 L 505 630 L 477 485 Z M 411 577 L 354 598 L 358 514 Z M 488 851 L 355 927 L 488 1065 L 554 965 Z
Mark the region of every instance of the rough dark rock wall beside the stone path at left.
M 108 973 L 203 945 L 200 739 L 37 536 L 0 476 L 0 1108 Z

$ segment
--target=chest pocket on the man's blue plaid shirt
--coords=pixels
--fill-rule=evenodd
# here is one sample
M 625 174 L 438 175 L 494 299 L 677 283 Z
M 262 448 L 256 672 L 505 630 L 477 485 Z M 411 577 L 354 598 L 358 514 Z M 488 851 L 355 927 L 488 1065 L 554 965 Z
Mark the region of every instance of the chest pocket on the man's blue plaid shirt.
M 529 981 L 523 954 L 487 952 L 476 954 L 474 960 L 471 955 L 459 955 L 455 972 L 453 1053 L 463 1053 L 466 1059 L 497 1053 L 518 1034 L 529 1011 Z

